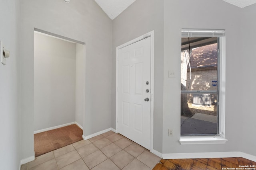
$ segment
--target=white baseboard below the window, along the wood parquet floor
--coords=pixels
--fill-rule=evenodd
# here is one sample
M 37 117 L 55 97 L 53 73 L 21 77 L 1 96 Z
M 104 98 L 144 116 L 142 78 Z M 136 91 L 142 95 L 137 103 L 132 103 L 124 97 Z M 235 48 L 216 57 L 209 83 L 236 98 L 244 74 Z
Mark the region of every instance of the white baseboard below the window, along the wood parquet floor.
M 230 158 L 243 157 L 256 162 L 256 156 L 244 152 L 201 152 L 201 153 L 174 153 L 162 154 L 163 159 L 196 159 L 196 158 Z

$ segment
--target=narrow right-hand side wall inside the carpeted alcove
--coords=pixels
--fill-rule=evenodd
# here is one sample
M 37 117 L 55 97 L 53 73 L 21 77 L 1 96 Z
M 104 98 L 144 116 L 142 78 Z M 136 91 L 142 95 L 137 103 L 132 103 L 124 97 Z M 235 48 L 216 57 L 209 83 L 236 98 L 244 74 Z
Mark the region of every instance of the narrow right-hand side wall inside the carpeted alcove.
M 76 122 L 83 126 L 85 112 L 85 45 L 76 44 Z

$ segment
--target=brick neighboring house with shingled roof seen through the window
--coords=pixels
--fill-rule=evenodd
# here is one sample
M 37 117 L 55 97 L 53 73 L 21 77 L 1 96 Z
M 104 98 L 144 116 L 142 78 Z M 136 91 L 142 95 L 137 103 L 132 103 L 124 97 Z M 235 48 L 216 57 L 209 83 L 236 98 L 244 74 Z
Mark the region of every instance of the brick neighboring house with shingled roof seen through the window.
M 190 66 L 191 66 L 191 80 L 190 80 L 190 68 L 188 65 L 186 88 L 187 90 L 216 90 L 218 83 L 218 47 L 217 43 L 211 45 L 205 45 L 202 47 L 192 49 Z M 209 95 L 204 95 L 204 100 L 208 100 Z M 208 102 L 204 104 L 209 105 L 215 102 L 216 98 L 211 97 Z M 190 103 L 202 104 L 198 101 L 197 95 L 190 95 L 188 99 Z

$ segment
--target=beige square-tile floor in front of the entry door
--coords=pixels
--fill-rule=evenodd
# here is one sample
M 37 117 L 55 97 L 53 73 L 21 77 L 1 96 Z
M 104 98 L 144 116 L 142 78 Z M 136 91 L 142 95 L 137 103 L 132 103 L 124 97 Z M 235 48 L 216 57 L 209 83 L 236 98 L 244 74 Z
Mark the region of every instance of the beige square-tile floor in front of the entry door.
M 36 157 L 21 170 L 151 170 L 161 160 L 122 135 L 108 131 Z

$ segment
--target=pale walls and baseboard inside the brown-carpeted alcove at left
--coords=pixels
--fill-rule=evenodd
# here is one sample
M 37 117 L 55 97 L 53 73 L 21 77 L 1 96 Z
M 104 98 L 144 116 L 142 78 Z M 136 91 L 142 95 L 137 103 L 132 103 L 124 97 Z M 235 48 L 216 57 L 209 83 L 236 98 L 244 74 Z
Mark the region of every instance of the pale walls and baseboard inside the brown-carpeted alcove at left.
M 34 134 L 83 129 L 84 105 L 85 43 L 35 29 Z

